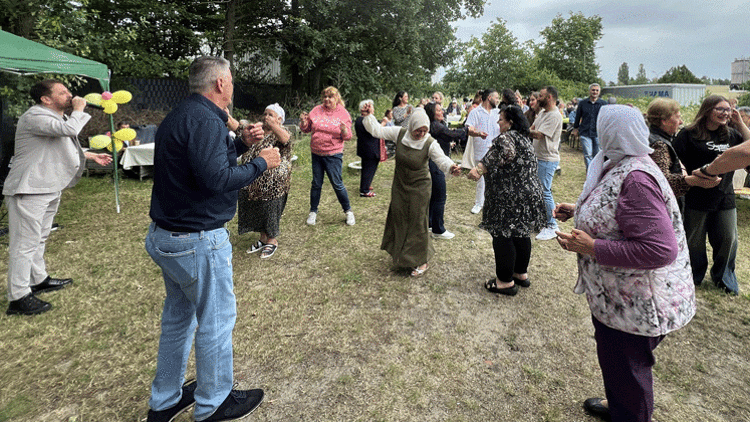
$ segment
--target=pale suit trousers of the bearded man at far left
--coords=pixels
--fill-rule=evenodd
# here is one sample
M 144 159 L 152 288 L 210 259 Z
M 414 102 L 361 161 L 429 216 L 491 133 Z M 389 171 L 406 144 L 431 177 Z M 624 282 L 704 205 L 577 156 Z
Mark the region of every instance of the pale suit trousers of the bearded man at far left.
M 47 278 L 44 249 L 60 205 L 60 192 L 8 196 L 5 204 L 10 235 L 8 300 L 18 300 Z

